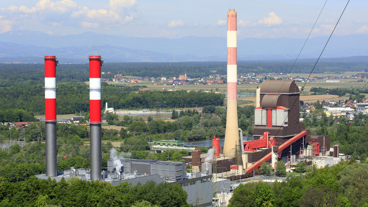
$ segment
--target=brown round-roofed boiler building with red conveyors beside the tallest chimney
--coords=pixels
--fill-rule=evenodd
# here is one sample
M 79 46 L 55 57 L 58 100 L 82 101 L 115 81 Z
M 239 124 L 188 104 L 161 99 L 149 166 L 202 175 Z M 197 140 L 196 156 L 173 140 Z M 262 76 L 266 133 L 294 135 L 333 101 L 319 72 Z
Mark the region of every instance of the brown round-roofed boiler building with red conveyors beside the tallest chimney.
M 242 134 L 240 136 L 243 165 L 236 163 L 235 158 L 220 154 L 208 161 L 214 164 L 213 172 L 231 171 L 239 166 L 241 172 L 244 167 L 243 173 L 250 173 L 259 169 L 263 161 L 274 165 L 283 160 L 291 164 L 301 157 L 330 154 L 330 136 L 310 135 L 299 122 L 299 95 L 299 87 L 294 80 L 265 80 L 257 88 L 254 140 L 243 141 Z M 206 158 L 211 156 L 200 154 L 199 150 L 193 151 L 192 155 L 183 159 L 192 163 L 194 171 L 201 171 Z

